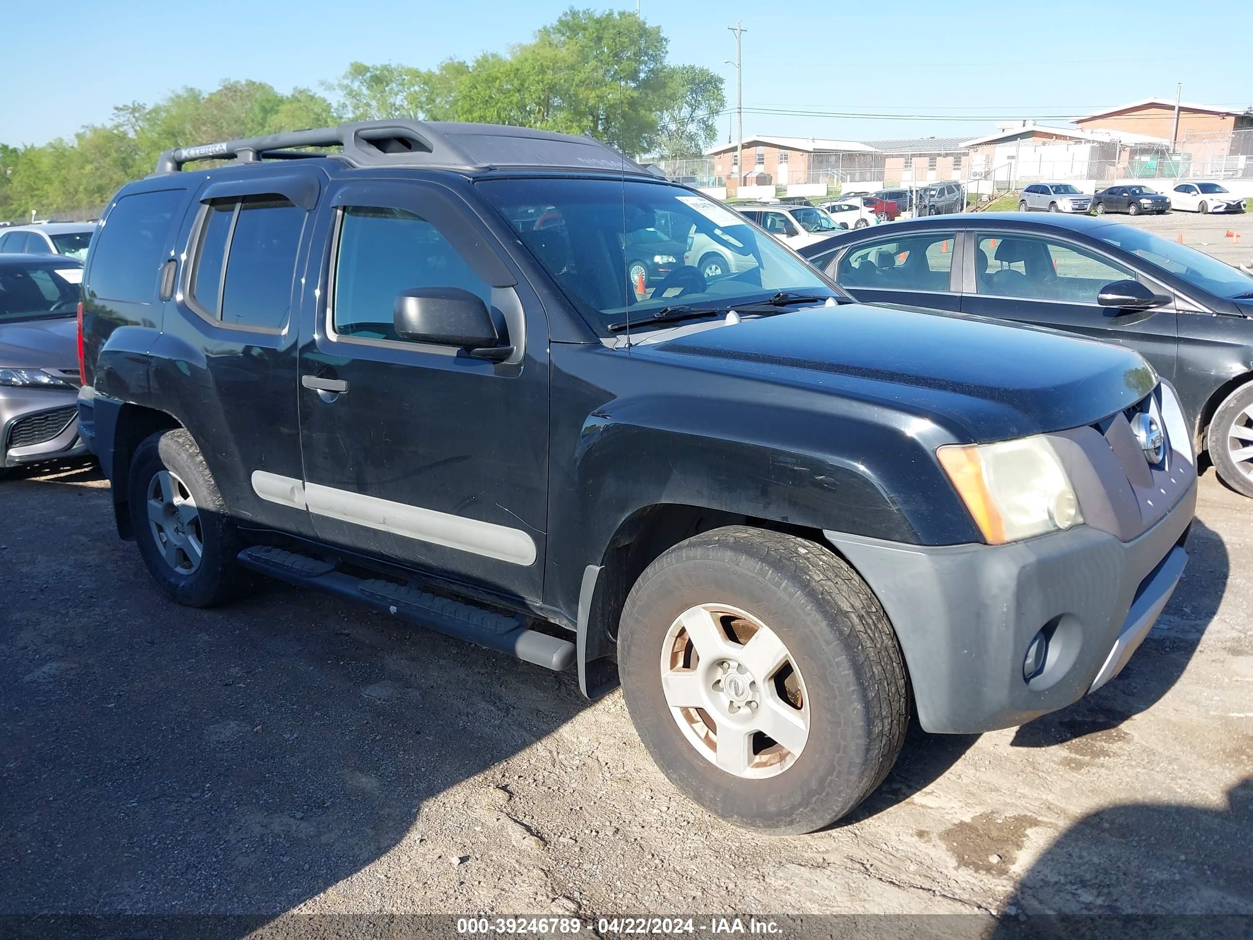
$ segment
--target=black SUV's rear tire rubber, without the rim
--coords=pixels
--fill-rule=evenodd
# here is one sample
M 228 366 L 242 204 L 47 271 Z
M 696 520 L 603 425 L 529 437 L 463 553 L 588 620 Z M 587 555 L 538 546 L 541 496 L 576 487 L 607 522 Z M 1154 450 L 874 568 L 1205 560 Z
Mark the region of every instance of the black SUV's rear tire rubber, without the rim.
M 178 475 L 198 509 L 203 554 L 199 567 L 188 575 L 173 570 L 162 558 L 148 523 L 148 485 L 160 470 Z M 243 545 L 234 521 L 227 514 L 204 455 L 185 430 L 158 431 L 135 449 L 127 498 L 139 554 L 153 580 L 179 604 L 213 607 L 239 597 L 253 584 L 252 575 L 237 561 Z

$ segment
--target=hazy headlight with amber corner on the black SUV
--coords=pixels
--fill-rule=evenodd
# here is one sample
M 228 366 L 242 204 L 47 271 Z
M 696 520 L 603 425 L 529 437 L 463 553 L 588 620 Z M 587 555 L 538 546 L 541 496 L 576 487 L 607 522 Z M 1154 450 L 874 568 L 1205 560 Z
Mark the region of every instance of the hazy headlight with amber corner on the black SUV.
M 1084 521 L 1061 460 L 1045 437 L 947 445 L 936 457 L 990 545 Z

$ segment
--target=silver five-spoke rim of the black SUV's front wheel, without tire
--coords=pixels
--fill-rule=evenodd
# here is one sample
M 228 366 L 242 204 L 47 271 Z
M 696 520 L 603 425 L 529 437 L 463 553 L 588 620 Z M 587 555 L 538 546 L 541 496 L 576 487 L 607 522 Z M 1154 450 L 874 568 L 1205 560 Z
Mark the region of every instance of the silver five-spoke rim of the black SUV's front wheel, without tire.
M 783 773 L 809 737 L 809 699 L 787 645 L 727 604 L 688 608 L 662 645 L 662 691 L 675 723 L 710 763 L 736 777 Z

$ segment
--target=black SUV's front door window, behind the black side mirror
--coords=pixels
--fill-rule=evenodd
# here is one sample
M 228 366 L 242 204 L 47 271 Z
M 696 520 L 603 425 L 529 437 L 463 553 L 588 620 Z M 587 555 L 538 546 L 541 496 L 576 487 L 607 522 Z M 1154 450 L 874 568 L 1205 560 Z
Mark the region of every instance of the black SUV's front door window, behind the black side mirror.
M 491 310 L 491 286 L 430 222 L 403 209 L 343 209 L 331 305 L 335 332 L 398 340 L 396 296 L 415 287 L 460 287 Z

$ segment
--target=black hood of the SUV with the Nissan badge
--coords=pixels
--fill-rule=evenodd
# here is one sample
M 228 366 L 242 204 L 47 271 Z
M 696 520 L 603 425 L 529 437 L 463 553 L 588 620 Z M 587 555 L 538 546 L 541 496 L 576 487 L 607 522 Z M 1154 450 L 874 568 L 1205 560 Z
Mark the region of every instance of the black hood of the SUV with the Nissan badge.
M 1118 346 L 866 305 L 746 320 L 637 346 L 635 353 L 821 389 L 930 419 L 971 442 L 1089 425 L 1140 401 L 1158 382 L 1138 353 Z

